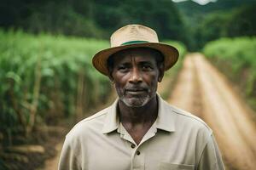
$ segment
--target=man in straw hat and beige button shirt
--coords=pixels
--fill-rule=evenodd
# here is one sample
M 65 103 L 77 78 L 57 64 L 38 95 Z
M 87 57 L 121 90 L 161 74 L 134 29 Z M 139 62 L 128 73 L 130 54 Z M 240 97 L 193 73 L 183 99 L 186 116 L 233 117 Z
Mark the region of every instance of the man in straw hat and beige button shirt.
M 118 99 L 67 134 L 60 170 L 224 169 L 212 130 L 156 94 L 178 52 L 154 30 L 129 25 L 93 65 L 114 83 Z

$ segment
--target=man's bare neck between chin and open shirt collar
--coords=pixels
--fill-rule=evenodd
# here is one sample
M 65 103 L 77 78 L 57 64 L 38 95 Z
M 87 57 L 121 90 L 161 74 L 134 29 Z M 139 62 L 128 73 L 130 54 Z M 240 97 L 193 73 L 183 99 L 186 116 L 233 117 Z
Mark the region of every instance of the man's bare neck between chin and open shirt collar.
M 153 123 L 158 115 L 158 104 L 156 96 L 142 107 L 130 107 L 119 100 L 119 119 L 122 123 L 131 125 Z

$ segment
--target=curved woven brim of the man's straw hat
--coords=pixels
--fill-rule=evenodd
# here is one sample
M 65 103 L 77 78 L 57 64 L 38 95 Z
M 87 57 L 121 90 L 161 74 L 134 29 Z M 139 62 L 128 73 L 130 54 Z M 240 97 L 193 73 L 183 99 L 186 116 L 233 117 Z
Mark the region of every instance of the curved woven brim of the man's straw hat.
M 108 57 L 112 54 L 128 48 L 153 48 L 160 51 L 160 53 L 163 54 L 165 58 L 165 71 L 175 65 L 178 59 L 177 48 L 161 42 L 145 42 L 103 49 L 102 51 L 94 55 L 92 59 L 92 64 L 97 71 L 100 71 L 103 75 L 108 76 Z

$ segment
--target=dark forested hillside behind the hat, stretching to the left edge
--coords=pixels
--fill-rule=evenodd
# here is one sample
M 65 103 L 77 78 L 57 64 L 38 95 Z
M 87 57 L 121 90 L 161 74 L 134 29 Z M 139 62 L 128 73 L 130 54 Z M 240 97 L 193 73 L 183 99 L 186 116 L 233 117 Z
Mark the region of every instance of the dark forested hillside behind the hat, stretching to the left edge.
M 183 20 L 171 0 L 9 0 L 0 6 L 1 26 L 38 33 L 108 38 L 126 24 L 150 26 L 160 37 L 184 41 Z

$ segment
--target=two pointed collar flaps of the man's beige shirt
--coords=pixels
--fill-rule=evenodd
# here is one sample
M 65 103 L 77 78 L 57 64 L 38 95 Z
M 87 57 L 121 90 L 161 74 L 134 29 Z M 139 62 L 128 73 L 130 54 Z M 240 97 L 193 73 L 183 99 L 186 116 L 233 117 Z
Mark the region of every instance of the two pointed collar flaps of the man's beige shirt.
M 156 127 L 167 132 L 175 131 L 176 114 L 172 111 L 172 107 L 166 103 L 164 99 L 157 94 L 159 103 L 158 116 L 156 119 Z M 119 127 L 119 116 L 117 115 L 118 100 L 113 102 L 113 105 L 108 107 L 108 113 L 102 128 L 102 133 L 111 133 Z

